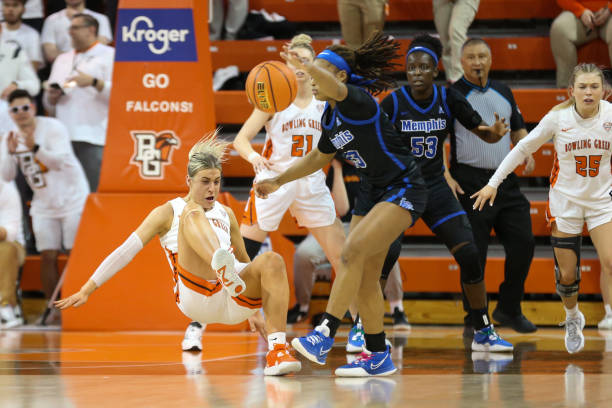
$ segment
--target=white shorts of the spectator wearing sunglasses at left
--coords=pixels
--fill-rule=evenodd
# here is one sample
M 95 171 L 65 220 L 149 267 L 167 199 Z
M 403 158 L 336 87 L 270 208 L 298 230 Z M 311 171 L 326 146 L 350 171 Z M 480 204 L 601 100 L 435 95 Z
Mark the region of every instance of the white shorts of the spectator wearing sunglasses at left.
M 61 251 L 72 249 L 74 237 L 79 229 L 81 212 L 60 218 L 32 215 L 32 231 L 36 250 Z

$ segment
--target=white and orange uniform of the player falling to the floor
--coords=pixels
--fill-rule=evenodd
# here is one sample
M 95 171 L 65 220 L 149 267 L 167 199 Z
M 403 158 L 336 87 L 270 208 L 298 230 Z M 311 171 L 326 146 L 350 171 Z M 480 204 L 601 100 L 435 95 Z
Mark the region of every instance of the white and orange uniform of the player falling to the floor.
M 248 319 L 261 308 L 261 299 L 246 296 L 232 297 L 223 290 L 218 280 L 206 280 L 182 268 L 178 263 L 179 217 L 186 202 L 182 198 L 169 201 L 174 211 L 172 226 L 159 240 L 164 248 L 174 276 L 174 295 L 177 306 L 190 319 L 203 323 L 236 324 Z M 222 204 L 215 202 L 212 209 L 205 212 L 210 220 L 221 248 L 231 246 L 230 218 Z M 248 264 L 235 262 L 235 270 L 240 273 Z

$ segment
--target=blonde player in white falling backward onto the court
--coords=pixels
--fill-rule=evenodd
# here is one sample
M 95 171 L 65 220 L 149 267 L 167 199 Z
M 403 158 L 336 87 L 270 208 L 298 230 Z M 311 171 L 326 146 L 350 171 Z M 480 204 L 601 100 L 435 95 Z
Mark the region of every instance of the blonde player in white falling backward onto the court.
M 249 263 L 234 213 L 216 201 L 226 148 L 227 143 L 218 141 L 212 134 L 191 149 L 187 177 L 189 194 L 185 200 L 179 198 L 184 202 L 182 211 L 174 211 L 171 226 L 162 236 L 162 245 L 169 252 L 174 269 L 177 306 L 197 322 L 236 324 L 252 317 L 263 304 L 269 348 L 264 374 L 297 372 L 301 364 L 287 350 L 285 336 L 289 284 L 284 261 L 280 255 L 266 252 Z M 161 207 L 158 209 L 148 218 L 163 211 Z M 133 257 L 138 243 L 127 246 L 134 246 L 126 251 Z M 177 252 L 168 247 L 176 248 Z M 229 252 L 231 247 L 235 257 Z M 129 259 L 114 261 L 123 265 L 117 265 L 112 273 L 96 271 L 79 292 L 56 302 L 56 306 L 66 309 L 84 304 L 99 284 L 125 266 Z

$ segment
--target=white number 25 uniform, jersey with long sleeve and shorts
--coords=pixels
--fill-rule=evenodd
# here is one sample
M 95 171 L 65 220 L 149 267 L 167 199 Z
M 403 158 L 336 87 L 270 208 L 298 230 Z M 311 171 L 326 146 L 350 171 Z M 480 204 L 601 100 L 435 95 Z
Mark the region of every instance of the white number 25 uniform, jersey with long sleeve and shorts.
M 612 104 L 583 119 L 573 106 L 550 111 L 506 156 L 491 177 L 497 188 L 527 155 L 549 140 L 555 146 L 550 177 L 549 222 L 568 234 L 580 234 L 612 221 Z

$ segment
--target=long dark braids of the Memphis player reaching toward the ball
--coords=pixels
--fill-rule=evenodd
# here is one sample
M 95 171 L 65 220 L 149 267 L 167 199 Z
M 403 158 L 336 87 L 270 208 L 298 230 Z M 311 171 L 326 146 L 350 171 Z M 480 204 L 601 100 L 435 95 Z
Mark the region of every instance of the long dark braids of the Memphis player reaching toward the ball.
M 332 45 L 327 47 L 330 51 L 341 56 L 349 65 L 354 74 L 366 80 L 374 80 L 363 85 L 369 92 L 376 95 L 395 87 L 393 73 L 400 64 L 392 62 L 399 58 L 400 45 L 388 35 L 375 32 L 359 48 L 353 50 L 345 45 Z

